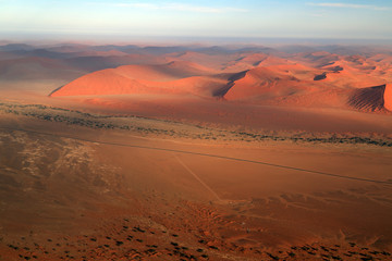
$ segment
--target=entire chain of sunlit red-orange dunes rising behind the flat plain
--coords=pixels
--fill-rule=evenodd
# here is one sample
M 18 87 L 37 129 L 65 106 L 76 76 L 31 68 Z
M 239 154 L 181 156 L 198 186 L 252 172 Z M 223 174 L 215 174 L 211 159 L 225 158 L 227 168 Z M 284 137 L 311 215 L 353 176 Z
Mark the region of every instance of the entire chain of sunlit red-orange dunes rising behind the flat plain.
M 215 58 L 221 62 L 220 72 L 195 62 L 217 67 Z M 311 52 L 295 54 L 287 60 L 252 52 L 225 58 L 185 52 L 170 53 L 167 59 L 171 62 L 97 71 L 71 82 L 51 96 L 172 94 L 223 97 L 229 101 L 271 105 L 364 111 L 391 107 L 389 88 L 384 95 L 383 90 L 381 94 L 368 87 L 388 83 L 392 70 L 387 63 L 380 65 L 360 55 Z M 385 102 L 381 102 L 383 100 Z

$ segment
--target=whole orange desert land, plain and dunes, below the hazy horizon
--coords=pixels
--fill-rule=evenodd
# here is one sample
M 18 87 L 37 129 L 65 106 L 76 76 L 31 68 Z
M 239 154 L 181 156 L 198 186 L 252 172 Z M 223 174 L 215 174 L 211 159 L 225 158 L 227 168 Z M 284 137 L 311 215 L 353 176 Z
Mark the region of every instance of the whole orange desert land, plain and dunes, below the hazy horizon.
M 0 46 L 0 260 L 391 260 L 392 52 Z

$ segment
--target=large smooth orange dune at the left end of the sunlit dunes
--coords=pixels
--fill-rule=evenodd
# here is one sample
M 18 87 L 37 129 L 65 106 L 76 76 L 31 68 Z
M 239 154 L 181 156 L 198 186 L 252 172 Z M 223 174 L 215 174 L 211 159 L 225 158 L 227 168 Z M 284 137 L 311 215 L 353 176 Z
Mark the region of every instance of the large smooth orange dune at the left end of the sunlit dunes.
M 213 74 L 191 62 L 163 65 L 124 65 L 84 75 L 51 96 L 89 96 L 124 94 L 193 94 L 221 97 L 243 74 Z

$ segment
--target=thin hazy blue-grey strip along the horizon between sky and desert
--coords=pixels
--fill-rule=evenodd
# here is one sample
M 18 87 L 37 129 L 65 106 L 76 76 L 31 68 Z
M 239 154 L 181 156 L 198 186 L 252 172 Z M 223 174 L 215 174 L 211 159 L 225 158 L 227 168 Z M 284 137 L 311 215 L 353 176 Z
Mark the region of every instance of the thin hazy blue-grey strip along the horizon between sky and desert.
M 262 42 L 264 41 L 264 42 Z M 0 45 L 8 44 L 83 44 L 83 45 L 392 45 L 391 38 L 341 38 L 341 37 L 294 37 L 294 36 L 33 36 L 17 35 L 0 38 Z

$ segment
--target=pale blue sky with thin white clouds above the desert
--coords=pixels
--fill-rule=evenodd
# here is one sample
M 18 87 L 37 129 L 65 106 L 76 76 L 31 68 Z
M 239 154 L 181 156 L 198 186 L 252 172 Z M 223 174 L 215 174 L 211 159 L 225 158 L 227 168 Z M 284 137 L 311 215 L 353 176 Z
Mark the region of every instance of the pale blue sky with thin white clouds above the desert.
M 0 0 L 12 37 L 392 39 L 392 0 Z

